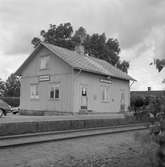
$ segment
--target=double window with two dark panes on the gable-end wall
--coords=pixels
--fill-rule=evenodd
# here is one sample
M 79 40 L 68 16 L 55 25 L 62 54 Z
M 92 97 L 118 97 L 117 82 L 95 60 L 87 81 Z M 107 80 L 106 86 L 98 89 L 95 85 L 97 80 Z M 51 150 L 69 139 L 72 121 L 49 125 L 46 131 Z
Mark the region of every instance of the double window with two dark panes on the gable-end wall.
M 60 99 L 60 85 L 54 85 L 50 88 L 50 99 Z

